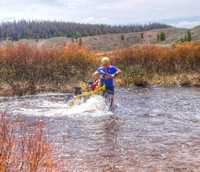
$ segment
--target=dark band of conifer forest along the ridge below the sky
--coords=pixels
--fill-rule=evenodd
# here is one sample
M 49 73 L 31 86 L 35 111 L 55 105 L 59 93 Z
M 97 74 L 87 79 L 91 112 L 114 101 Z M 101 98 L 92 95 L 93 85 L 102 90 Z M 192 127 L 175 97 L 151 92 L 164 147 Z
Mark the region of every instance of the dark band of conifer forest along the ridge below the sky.
M 145 25 L 80 24 L 62 21 L 13 21 L 0 23 L 0 40 L 47 39 L 52 37 L 80 38 L 86 36 L 143 32 L 152 29 L 170 28 L 160 23 Z

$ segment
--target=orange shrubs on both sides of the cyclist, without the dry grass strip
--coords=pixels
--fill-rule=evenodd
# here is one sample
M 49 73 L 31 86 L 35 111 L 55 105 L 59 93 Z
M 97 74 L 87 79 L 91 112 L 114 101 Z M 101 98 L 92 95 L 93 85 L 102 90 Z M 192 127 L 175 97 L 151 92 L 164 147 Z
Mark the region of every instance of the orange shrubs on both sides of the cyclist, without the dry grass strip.
M 123 70 L 121 77 L 200 70 L 199 42 L 176 44 L 172 47 L 137 45 L 107 54 L 111 57 L 112 64 Z M 25 43 L 9 43 L 0 48 L 0 80 L 16 90 L 13 92 L 17 92 L 16 88 L 21 88 L 19 82 L 26 83 L 27 89 L 19 90 L 22 94 L 34 93 L 37 83 L 52 83 L 55 86 L 77 83 L 83 76 L 91 77 L 99 65 L 99 56 L 99 53 L 95 55 L 88 47 L 78 43 L 45 49 Z

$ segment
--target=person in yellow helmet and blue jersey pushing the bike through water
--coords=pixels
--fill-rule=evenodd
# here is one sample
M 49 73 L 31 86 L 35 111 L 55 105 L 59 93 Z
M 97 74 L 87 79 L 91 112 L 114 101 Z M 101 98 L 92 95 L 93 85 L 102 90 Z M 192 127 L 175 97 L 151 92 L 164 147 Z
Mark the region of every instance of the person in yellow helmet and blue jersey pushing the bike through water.
M 108 77 L 105 81 L 106 90 L 110 90 L 114 94 L 114 80 L 113 79 L 117 75 L 121 74 L 122 71 L 115 66 L 111 66 L 109 64 L 110 60 L 108 57 L 103 57 L 101 62 L 103 66 L 99 67 L 97 71 L 93 73 L 92 77 L 96 78 L 99 75 L 101 79 L 101 83 L 103 85 L 105 81 L 105 79 L 103 78 L 104 74 L 109 74 L 110 77 Z

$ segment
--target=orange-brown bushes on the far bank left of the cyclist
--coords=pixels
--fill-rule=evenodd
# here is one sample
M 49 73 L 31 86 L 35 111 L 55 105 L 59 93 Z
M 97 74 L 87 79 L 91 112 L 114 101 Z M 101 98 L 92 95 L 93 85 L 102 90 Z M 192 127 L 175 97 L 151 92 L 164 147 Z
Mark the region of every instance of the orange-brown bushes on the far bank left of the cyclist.
M 35 93 L 41 83 L 76 82 L 91 74 L 96 60 L 87 47 L 76 43 L 46 49 L 8 43 L 0 49 L 0 64 L 1 83 L 7 83 L 13 94 L 23 95 Z

